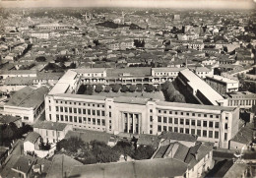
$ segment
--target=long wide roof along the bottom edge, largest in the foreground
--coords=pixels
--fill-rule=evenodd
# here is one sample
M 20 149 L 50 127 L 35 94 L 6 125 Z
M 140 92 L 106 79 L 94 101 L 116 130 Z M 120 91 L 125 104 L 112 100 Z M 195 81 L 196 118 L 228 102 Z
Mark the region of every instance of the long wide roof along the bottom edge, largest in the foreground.
M 69 177 L 119 178 L 120 175 L 122 178 L 176 177 L 183 176 L 186 170 L 187 164 L 176 159 L 147 159 L 75 166 L 69 174 Z

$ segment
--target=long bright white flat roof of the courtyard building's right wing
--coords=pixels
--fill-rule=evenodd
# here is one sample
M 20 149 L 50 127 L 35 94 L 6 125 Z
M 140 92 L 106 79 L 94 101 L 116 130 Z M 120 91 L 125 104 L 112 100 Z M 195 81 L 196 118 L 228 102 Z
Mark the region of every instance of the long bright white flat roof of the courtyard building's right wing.
M 191 87 L 193 85 L 193 89 L 202 92 L 214 105 L 218 105 L 218 100 L 224 99 L 219 92 L 211 88 L 205 81 L 203 81 L 189 69 L 180 71 L 180 73 L 188 80 L 188 85 Z

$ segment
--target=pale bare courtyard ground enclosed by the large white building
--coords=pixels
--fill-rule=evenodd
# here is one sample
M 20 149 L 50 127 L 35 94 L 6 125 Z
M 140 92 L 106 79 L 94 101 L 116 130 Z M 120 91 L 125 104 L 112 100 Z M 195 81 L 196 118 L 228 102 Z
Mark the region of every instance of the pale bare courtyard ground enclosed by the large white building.
M 144 98 L 154 98 L 160 99 L 164 101 L 164 96 L 161 91 L 153 91 L 153 92 L 94 92 L 93 95 L 102 95 L 107 97 L 118 97 L 118 96 L 130 96 L 130 97 L 144 97 Z

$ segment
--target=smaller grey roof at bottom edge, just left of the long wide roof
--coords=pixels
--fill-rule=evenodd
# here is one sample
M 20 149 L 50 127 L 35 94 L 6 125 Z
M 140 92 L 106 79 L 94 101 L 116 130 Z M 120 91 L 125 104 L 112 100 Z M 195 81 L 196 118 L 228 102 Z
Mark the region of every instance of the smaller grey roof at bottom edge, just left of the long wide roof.
M 81 166 L 83 163 L 65 154 L 55 154 L 46 178 L 67 177 L 74 166 Z

